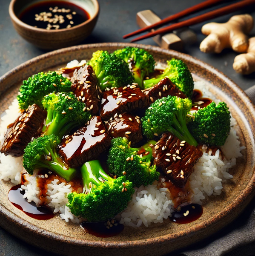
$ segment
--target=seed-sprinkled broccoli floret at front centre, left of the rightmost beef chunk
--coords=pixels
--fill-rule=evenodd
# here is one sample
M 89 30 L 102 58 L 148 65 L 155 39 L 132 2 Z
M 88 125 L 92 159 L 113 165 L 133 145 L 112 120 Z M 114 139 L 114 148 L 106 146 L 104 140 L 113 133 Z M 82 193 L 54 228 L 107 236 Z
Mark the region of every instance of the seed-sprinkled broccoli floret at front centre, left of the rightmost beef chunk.
M 134 186 L 152 184 L 158 180 L 160 173 L 156 171 L 156 166 L 150 166 L 152 160 L 152 148 L 149 144 L 155 144 L 155 141 L 149 141 L 141 148 L 131 148 L 126 138 L 118 137 L 112 139 L 112 145 L 107 159 L 108 171 L 112 175 L 126 176 L 132 181 Z M 145 152 L 147 155 L 145 155 Z M 142 158 L 140 158 L 142 154 Z

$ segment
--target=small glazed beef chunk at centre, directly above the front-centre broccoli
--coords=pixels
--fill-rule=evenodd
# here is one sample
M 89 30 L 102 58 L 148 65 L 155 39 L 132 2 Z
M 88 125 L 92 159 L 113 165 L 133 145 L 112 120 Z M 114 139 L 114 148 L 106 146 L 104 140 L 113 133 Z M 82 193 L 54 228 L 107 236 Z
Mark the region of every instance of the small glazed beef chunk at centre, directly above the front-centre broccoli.
M 111 138 L 126 137 L 132 144 L 143 138 L 140 118 L 135 115 L 115 114 L 114 118 L 105 122 L 105 127 Z

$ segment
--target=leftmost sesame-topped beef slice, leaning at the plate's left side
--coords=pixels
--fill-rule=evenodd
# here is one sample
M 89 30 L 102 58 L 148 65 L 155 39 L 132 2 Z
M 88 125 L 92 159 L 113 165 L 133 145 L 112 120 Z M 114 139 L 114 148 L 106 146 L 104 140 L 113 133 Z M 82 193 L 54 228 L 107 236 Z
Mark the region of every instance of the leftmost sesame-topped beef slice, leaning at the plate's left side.
M 15 157 L 23 155 L 27 144 L 40 133 L 44 118 L 46 118 L 46 112 L 36 104 L 23 110 L 16 121 L 7 127 L 8 130 L 0 151 L 5 155 Z

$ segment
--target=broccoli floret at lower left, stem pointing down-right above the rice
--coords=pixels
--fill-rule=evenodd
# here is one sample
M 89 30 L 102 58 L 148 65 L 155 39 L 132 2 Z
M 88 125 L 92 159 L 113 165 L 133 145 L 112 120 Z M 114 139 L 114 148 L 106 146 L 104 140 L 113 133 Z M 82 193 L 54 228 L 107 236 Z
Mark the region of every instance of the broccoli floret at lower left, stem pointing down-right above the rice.
M 57 154 L 60 139 L 56 135 L 43 136 L 29 142 L 24 150 L 23 166 L 29 174 L 37 168 L 48 169 L 66 181 L 76 174 L 74 168 L 68 167 Z

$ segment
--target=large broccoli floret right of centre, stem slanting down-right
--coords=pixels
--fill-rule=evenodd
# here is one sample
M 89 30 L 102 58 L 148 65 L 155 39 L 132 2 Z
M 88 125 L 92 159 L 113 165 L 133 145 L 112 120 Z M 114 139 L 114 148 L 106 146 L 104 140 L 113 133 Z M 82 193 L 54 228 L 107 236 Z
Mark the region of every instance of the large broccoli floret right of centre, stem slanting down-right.
M 142 118 L 143 134 L 151 139 L 154 134 L 160 135 L 169 131 L 181 141 L 197 146 L 198 143 L 190 134 L 186 124 L 186 115 L 191 107 L 192 102 L 187 98 L 181 99 L 169 95 L 156 100 L 146 109 Z

